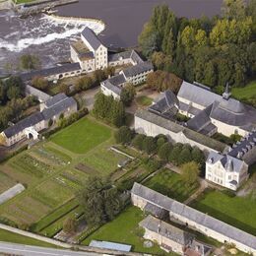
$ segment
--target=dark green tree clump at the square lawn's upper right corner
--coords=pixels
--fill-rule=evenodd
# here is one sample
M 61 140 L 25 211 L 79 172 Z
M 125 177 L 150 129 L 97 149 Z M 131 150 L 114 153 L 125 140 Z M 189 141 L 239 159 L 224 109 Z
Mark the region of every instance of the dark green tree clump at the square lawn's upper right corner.
M 96 118 L 104 119 L 117 127 L 125 123 L 124 105 L 122 101 L 115 100 L 113 96 L 97 94 L 93 112 Z

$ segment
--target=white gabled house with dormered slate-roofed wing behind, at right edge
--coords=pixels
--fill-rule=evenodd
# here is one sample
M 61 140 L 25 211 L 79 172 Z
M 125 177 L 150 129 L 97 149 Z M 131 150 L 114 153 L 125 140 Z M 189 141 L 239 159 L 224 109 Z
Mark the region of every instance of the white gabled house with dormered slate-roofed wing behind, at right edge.
M 205 178 L 236 190 L 248 178 L 248 166 L 256 161 L 256 131 L 228 149 L 226 154 L 211 152 L 206 160 Z

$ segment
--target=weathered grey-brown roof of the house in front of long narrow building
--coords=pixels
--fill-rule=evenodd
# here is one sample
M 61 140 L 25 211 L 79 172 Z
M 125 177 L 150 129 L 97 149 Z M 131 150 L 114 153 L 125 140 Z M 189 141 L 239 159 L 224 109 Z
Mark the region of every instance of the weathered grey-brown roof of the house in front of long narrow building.
M 153 216 L 148 216 L 139 225 L 153 232 L 159 233 L 160 235 L 183 246 L 192 244 L 194 239 L 194 235 L 189 232 L 183 231 L 174 225 L 162 222 Z

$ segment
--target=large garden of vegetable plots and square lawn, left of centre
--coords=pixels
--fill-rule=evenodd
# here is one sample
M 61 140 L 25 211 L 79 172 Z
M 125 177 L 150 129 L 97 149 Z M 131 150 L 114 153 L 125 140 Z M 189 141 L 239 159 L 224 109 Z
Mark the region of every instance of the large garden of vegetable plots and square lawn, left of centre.
M 1 222 L 52 237 L 68 217 L 83 214 L 76 194 L 90 175 L 115 172 L 126 158 L 110 150 L 112 128 L 86 117 L 0 164 L 0 192 L 26 190 L 0 205 Z

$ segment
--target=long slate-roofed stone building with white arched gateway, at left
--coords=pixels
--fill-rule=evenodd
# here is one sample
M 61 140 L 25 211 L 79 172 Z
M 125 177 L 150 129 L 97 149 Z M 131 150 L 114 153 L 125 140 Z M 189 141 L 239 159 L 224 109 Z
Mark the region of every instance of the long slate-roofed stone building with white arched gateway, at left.
M 68 117 L 76 111 L 77 102 L 73 97 L 64 94 L 51 96 L 40 103 L 40 111 L 5 129 L 0 134 L 0 142 L 9 147 L 26 138 L 37 139 L 38 132 L 48 128 L 49 120 L 55 123 L 61 114 Z

